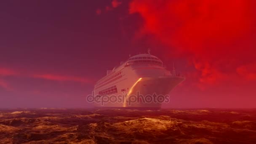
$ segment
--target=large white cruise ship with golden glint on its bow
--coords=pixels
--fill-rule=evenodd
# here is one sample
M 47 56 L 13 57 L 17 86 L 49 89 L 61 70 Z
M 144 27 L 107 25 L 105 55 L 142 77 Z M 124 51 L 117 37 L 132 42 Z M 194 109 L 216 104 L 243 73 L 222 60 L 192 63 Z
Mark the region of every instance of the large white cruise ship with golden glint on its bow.
M 94 106 L 101 108 L 161 108 L 162 101 L 150 101 L 149 98 L 149 101 L 146 102 L 141 100 L 141 97 L 138 99 L 138 93 L 144 97 L 153 94 L 165 96 L 184 80 L 183 76 L 176 74 L 174 67 L 172 72 L 165 69 L 163 61 L 151 55 L 149 50 L 145 54 L 130 56 L 119 66 L 107 70 L 107 75 L 97 81 L 94 86 L 95 98 L 98 100 L 94 102 Z M 108 96 L 111 100 L 106 98 L 102 103 L 103 96 Z M 130 96 L 133 96 L 132 103 L 129 102 Z M 137 100 L 134 102 L 136 96 Z M 117 101 L 117 99 L 122 100 Z

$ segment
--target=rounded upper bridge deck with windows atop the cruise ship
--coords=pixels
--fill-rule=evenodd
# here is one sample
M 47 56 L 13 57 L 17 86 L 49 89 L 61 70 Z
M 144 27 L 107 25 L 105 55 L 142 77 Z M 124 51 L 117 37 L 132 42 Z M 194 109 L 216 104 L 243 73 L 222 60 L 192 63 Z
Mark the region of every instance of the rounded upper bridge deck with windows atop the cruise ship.
M 138 54 L 136 56 L 132 56 L 126 61 L 126 64 L 156 64 L 163 66 L 163 62 L 151 54 Z

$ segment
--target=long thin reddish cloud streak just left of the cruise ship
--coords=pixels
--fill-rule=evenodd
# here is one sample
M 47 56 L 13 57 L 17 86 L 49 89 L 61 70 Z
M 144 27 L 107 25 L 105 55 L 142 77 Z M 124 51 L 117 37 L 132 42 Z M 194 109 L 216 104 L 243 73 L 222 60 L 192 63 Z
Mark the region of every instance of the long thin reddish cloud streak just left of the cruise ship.
M 43 74 L 43 75 L 34 75 L 35 78 L 43 78 L 46 80 L 56 80 L 56 81 L 75 81 L 81 83 L 91 83 L 91 80 L 82 78 L 82 77 L 71 77 L 71 76 L 61 76 L 61 75 L 51 75 L 51 74 Z

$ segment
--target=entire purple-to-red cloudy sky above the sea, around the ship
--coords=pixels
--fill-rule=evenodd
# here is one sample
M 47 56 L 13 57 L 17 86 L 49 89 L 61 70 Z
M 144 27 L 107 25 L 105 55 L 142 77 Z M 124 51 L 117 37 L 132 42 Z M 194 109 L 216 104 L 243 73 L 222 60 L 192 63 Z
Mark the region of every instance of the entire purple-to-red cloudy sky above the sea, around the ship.
M 0 5 L 0 107 L 90 107 L 85 96 L 128 55 L 186 81 L 164 107 L 255 107 L 254 0 L 95 0 Z

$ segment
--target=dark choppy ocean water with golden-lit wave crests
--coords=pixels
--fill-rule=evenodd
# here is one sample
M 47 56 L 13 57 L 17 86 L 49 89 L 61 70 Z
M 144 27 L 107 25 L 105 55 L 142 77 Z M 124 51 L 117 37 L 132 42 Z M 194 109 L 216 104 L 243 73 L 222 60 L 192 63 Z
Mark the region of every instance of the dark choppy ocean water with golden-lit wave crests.
M 0 109 L 0 144 L 256 144 L 256 109 Z

